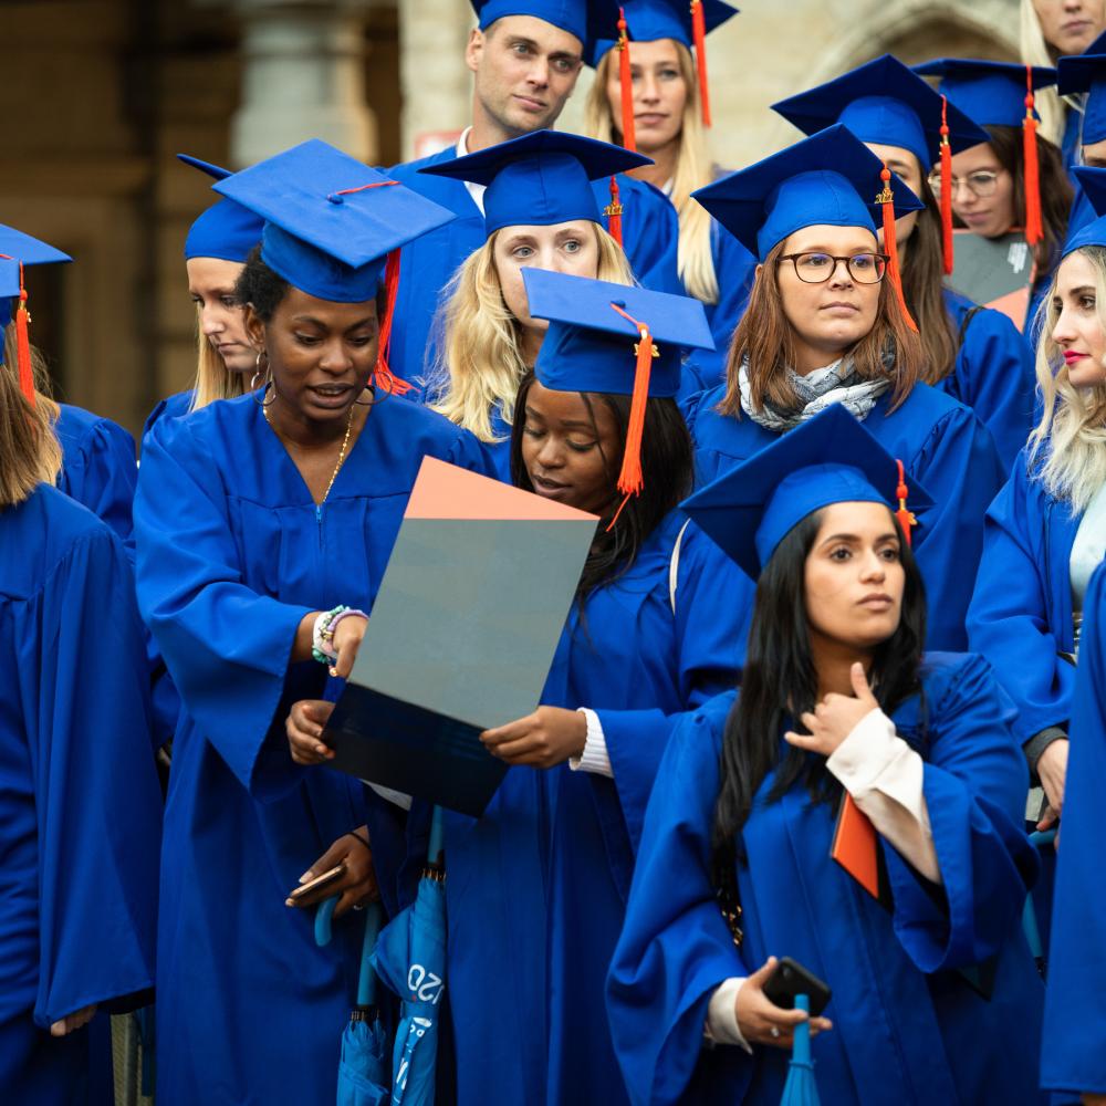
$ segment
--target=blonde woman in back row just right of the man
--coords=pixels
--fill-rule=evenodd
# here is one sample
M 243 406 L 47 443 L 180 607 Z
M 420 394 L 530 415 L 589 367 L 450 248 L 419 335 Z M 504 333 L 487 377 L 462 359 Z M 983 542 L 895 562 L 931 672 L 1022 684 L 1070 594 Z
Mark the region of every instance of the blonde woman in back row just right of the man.
M 688 295 L 707 309 L 717 351 L 696 362 L 709 383 L 723 373 L 724 351 L 749 300 L 755 260 L 740 242 L 721 233 L 691 192 L 709 185 L 718 168 L 707 148 L 709 112 L 706 71 L 691 55 L 695 39 L 686 0 L 630 0 L 624 6 L 628 66 L 618 43 L 601 40 L 591 61 L 595 82 L 584 108 L 584 129 L 604 142 L 620 142 L 648 154 L 654 164 L 634 176 L 660 188 L 679 216 L 679 275 Z M 737 10 L 719 0 L 703 3 L 703 32 Z M 624 69 L 626 73 L 624 73 Z M 623 86 L 633 88 L 623 103 Z

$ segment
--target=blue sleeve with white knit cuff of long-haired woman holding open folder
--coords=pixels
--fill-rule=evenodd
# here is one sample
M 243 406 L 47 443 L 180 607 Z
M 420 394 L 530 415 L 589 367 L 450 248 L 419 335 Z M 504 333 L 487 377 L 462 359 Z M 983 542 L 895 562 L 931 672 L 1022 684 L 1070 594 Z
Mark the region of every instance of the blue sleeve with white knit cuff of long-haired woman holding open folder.
M 689 524 L 680 544 L 672 658 L 686 712 L 737 687 L 752 601 L 749 577 L 693 523 Z M 606 740 L 622 821 L 636 848 L 665 747 L 684 714 L 666 714 L 658 708 L 596 713 Z

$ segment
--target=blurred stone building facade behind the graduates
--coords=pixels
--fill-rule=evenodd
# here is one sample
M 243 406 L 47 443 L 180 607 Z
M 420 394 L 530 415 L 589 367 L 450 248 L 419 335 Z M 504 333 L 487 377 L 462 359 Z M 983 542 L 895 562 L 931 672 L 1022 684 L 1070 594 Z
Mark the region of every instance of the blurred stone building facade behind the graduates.
M 729 167 L 795 137 L 769 104 L 885 51 L 1015 56 L 1016 0 L 739 6 L 709 45 Z M 468 0 L 8 0 L 3 17 L 0 222 L 75 258 L 31 271 L 32 337 L 62 398 L 135 431 L 195 366 L 180 250 L 211 195 L 177 152 L 239 167 L 319 135 L 386 165 L 468 115 Z

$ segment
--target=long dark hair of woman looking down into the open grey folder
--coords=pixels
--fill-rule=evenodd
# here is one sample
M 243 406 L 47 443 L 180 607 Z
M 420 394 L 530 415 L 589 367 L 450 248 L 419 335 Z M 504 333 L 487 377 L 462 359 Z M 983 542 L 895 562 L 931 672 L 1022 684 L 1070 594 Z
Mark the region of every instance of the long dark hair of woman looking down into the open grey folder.
M 532 369 L 522 378 L 514 400 L 514 425 L 511 427 L 511 481 L 517 488 L 524 488 L 526 491 L 533 491 L 534 486 L 530 482 L 530 473 L 522 460 L 522 435 L 526 425 L 526 397 L 535 379 Z M 614 418 L 617 448 L 611 457 L 603 455 L 611 479 L 613 514 L 620 502 L 615 486 L 626 448 L 630 397 L 587 392 L 580 395 L 596 437 L 598 428 L 595 422 L 595 404 L 603 404 Z M 691 436 L 676 400 L 659 397 L 649 399 L 641 435 L 641 476 L 645 490 L 640 495 L 630 498 L 612 529 L 607 529 L 608 519 L 599 524 L 576 588 L 581 606 L 596 587 L 609 584 L 629 570 L 649 534 L 690 492 L 693 456 Z

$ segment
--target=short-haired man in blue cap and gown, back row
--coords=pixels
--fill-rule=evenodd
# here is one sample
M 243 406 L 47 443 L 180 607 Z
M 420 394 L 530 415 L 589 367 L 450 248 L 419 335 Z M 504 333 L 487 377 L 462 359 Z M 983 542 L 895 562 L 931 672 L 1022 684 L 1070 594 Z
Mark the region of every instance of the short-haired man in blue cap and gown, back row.
M 421 378 L 434 362 L 428 345 L 441 289 L 487 237 L 483 188 L 418 170 L 552 127 L 576 85 L 588 44 L 609 36 L 618 19 L 609 0 L 472 0 L 472 6 L 479 25 L 465 53 L 473 74 L 471 125 L 456 147 L 397 165 L 389 174 L 457 215 L 403 251 L 390 364 L 408 382 Z M 612 217 L 620 220 L 623 244 L 645 286 L 678 293 L 675 209 L 651 185 L 623 175 L 612 180 L 616 194 L 607 180 L 593 185 L 607 229 Z

